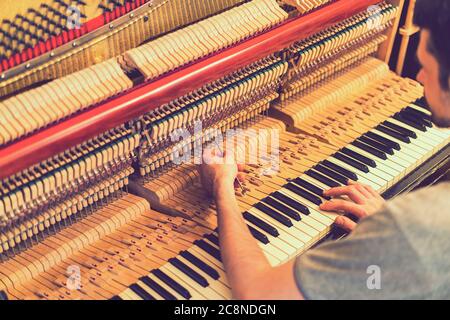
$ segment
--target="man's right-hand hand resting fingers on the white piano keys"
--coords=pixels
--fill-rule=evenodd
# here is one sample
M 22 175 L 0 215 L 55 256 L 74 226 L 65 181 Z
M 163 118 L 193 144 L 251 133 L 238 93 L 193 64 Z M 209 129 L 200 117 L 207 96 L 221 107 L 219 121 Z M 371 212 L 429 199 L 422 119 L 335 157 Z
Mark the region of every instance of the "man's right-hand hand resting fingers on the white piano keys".
M 358 220 L 377 213 L 385 204 L 385 200 L 371 187 L 355 182 L 350 182 L 345 187 L 325 191 L 324 195 L 341 199 L 324 202 L 320 206 L 321 210 L 341 211 L 354 216 Z M 346 197 L 346 199 L 342 199 L 342 197 Z M 336 218 L 335 224 L 346 231 L 353 231 L 357 226 L 353 220 L 345 215 Z

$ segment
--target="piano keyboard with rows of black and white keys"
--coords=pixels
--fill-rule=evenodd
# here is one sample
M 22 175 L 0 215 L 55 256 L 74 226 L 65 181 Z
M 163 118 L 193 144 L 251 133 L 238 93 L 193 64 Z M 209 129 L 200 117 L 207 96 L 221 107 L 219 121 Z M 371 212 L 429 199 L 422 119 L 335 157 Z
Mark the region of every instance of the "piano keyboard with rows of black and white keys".
M 450 133 L 435 128 L 430 113 L 416 101 L 361 135 L 243 213 L 250 232 L 273 266 L 301 254 L 326 235 L 334 213 L 319 209 L 323 191 L 358 181 L 383 192 L 418 163 L 450 141 Z M 293 143 L 295 145 L 295 143 Z M 395 165 L 393 165 L 395 164 Z M 241 201 L 239 201 L 241 202 Z M 112 299 L 230 299 L 231 288 L 220 256 L 217 231 L 149 270 Z

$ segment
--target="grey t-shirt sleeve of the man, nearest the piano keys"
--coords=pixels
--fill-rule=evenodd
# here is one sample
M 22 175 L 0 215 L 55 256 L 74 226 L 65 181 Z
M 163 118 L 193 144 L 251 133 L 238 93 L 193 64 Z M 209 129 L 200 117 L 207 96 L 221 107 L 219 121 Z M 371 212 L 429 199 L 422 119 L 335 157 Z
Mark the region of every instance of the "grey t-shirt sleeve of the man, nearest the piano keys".
M 430 290 L 418 255 L 387 209 L 346 239 L 298 257 L 294 273 L 306 299 L 422 299 Z

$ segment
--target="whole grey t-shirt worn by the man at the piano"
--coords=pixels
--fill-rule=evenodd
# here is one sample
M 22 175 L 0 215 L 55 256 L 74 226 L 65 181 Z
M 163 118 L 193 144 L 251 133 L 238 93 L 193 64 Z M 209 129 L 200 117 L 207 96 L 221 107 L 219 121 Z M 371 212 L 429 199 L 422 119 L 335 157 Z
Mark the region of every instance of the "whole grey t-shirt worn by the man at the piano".
M 389 202 L 297 258 L 306 299 L 450 299 L 450 183 Z

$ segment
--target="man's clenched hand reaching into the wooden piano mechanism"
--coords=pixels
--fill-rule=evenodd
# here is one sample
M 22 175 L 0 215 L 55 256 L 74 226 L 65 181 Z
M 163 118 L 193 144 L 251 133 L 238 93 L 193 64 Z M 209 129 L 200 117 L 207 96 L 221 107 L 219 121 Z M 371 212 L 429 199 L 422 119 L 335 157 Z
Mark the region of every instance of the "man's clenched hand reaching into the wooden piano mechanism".
M 236 179 L 245 180 L 243 165 L 237 165 L 234 157 L 217 149 L 207 149 L 203 154 L 203 163 L 198 167 L 203 188 L 216 196 L 218 186 L 237 187 Z

